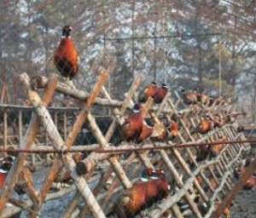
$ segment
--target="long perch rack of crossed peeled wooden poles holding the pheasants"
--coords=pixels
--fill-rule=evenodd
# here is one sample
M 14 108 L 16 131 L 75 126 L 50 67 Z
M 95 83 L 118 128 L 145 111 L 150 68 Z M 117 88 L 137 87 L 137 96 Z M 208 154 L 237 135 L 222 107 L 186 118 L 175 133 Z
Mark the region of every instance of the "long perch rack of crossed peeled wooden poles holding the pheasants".
M 252 173 L 252 169 L 249 168 L 247 174 L 241 178 L 238 185 L 235 188 L 233 187 L 233 183 L 230 180 L 232 170 L 241 158 L 242 153 L 250 149 L 249 141 L 245 139 L 242 133 L 237 133 L 236 123 L 226 123 L 223 127 L 214 129 L 207 135 L 192 133 L 204 112 L 212 114 L 215 112 L 229 112 L 232 114 L 230 106 L 222 104 L 211 107 L 185 106 L 184 108 L 184 103 L 180 96 L 174 93 L 177 96 L 177 101 L 174 102 L 171 92 L 166 95 L 160 105 L 155 105 L 153 99 L 148 98 L 147 102 L 143 104 L 143 118 L 151 118 L 155 125 L 160 127 L 160 129 L 164 129 L 165 126 L 161 118 L 167 118 L 171 121 L 172 116 L 175 115 L 177 123 L 180 125 L 175 142 L 147 140 L 140 145 L 122 143 L 119 146 L 112 146 L 109 141 L 118 126 L 124 122 L 127 108 L 131 108 L 134 105 L 133 100 L 143 77 L 138 76 L 135 79 L 123 101 L 113 100 L 111 95 L 108 94 L 107 89 L 104 87 L 108 77 L 108 71 L 102 70 L 94 89 L 91 90 L 90 94 L 87 94 L 79 89 L 69 87 L 66 83 L 58 82 L 56 75 L 52 75 L 49 78 L 39 76 L 32 79 L 26 73 L 20 75 L 20 81 L 27 90 L 27 98 L 33 106 L 33 113 L 30 124 L 26 129 L 26 135 L 20 137 L 19 149 L 27 150 L 28 152 L 32 152 L 33 149 L 42 149 L 42 151 L 54 149 L 56 152 L 61 153 L 55 156 L 58 158 L 54 159 L 54 163 L 49 168 L 49 172 L 45 176 L 44 183 L 39 192 L 36 192 L 33 186 L 32 173 L 26 169 L 28 154 L 26 152 L 19 153 L 1 191 L 1 217 L 15 215 L 21 210 L 28 210 L 30 217 L 37 217 L 43 204 L 48 200 L 61 198 L 68 192 L 76 191 L 62 217 L 72 217 L 74 214 L 79 215 L 79 217 L 85 217 L 90 214 L 93 217 L 104 218 L 112 210 L 114 196 L 118 195 L 121 190 L 130 188 L 138 180 L 141 170 L 154 168 L 156 164 L 157 168 L 166 170 L 167 179 L 172 178 L 172 183 L 175 184 L 172 185 L 172 188 L 174 189 L 177 186 L 177 191 L 174 195 L 170 194 L 156 207 L 153 205 L 148 217 L 162 217 L 164 213 L 175 215 L 178 218 L 184 217 L 183 212 L 177 205 L 178 202 L 183 200 L 189 205 L 190 213 L 195 217 L 201 218 L 199 205 L 194 201 L 195 194 L 199 194 L 202 201 L 210 205 L 205 217 L 212 217 L 216 205 L 223 200 L 223 196 L 227 195 L 230 190 L 233 190 L 230 196 L 228 195 L 227 198 L 224 198 L 224 204 L 218 204 L 218 210 L 215 212 L 215 215 L 217 217 L 221 215 L 224 205 L 230 204 L 230 200 L 234 197 L 237 190 L 247 180 L 247 176 Z M 42 99 L 38 95 L 37 89 L 44 89 Z M 68 135 L 64 136 L 65 140 L 62 138 L 47 109 L 47 106 L 54 98 L 55 92 L 69 95 L 84 102 L 75 118 L 72 129 Z M 100 94 L 104 98 L 100 98 Z M 91 113 L 94 105 L 110 106 L 113 112 L 113 121 L 105 135 L 102 134 L 102 130 L 96 123 L 96 118 Z M 179 106 L 183 106 L 181 111 L 177 110 Z M 76 137 L 79 135 L 85 122 L 89 125 L 90 132 L 96 138 L 97 144 L 73 147 Z M 38 146 L 36 143 L 40 125 L 44 127 L 51 141 L 51 143 L 47 143 L 48 146 Z M 203 163 L 197 163 L 195 155 L 199 149 L 198 146 L 219 144 L 219 139 L 222 137 L 226 137 L 229 143 L 234 142 L 234 144 L 232 146 L 224 146 L 216 158 L 206 160 Z M 191 147 L 191 145 L 197 146 Z M 69 149 L 72 149 L 73 152 L 87 152 L 88 155 L 77 164 L 73 159 L 72 153 L 65 152 Z M 131 151 L 131 149 L 134 150 Z M 150 149 L 152 151 L 148 152 Z M 123 155 L 120 155 L 121 152 L 131 152 L 131 154 L 129 158 L 125 159 Z M 255 163 L 253 162 L 253 164 Z M 99 165 L 101 165 L 100 172 L 97 169 Z M 71 175 L 74 181 L 73 185 L 70 188 L 62 189 L 60 192 L 49 193 L 55 178 L 63 169 L 67 170 L 69 175 Z M 97 176 L 97 184 L 92 188 L 88 182 L 93 178 L 91 175 L 95 173 L 102 176 L 101 178 Z M 204 186 L 196 179 L 196 176 L 201 176 L 203 185 L 209 188 L 211 195 L 205 192 Z M 212 186 L 208 178 L 209 176 L 218 184 L 217 188 Z M 29 198 L 26 201 L 12 198 L 12 192 L 14 192 L 15 184 L 19 178 L 26 183 L 26 194 Z M 186 178 L 185 181 L 183 178 Z M 113 182 L 109 189 L 102 192 L 104 185 L 110 179 Z M 81 201 L 84 202 L 84 207 L 79 209 L 78 205 Z M 12 205 L 6 206 L 8 202 Z

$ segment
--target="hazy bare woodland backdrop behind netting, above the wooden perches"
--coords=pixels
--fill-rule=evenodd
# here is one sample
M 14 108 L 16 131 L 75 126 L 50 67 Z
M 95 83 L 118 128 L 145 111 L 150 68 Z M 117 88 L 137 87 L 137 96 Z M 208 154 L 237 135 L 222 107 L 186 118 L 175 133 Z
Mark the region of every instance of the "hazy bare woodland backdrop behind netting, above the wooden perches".
M 70 25 L 81 60 L 79 88 L 90 90 L 98 62 L 108 56 L 116 59 L 108 84 L 115 99 L 139 73 L 175 89 L 250 93 L 253 104 L 253 1 L 2 1 L 1 10 L 1 83 L 8 83 L 9 102 L 25 103 L 20 72 L 56 72 L 55 49 Z

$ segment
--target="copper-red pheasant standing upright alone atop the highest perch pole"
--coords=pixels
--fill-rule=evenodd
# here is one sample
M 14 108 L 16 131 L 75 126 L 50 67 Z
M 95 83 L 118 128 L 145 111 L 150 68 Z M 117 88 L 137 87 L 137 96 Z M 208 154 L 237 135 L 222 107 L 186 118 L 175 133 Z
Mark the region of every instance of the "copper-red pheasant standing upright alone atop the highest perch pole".
M 64 26 L 61 43 L 55 51 L 54 62 L 62 77 L 70 80 L 79 72 L 79 53 L 75 47 L 70 32 L 71 26 Z

